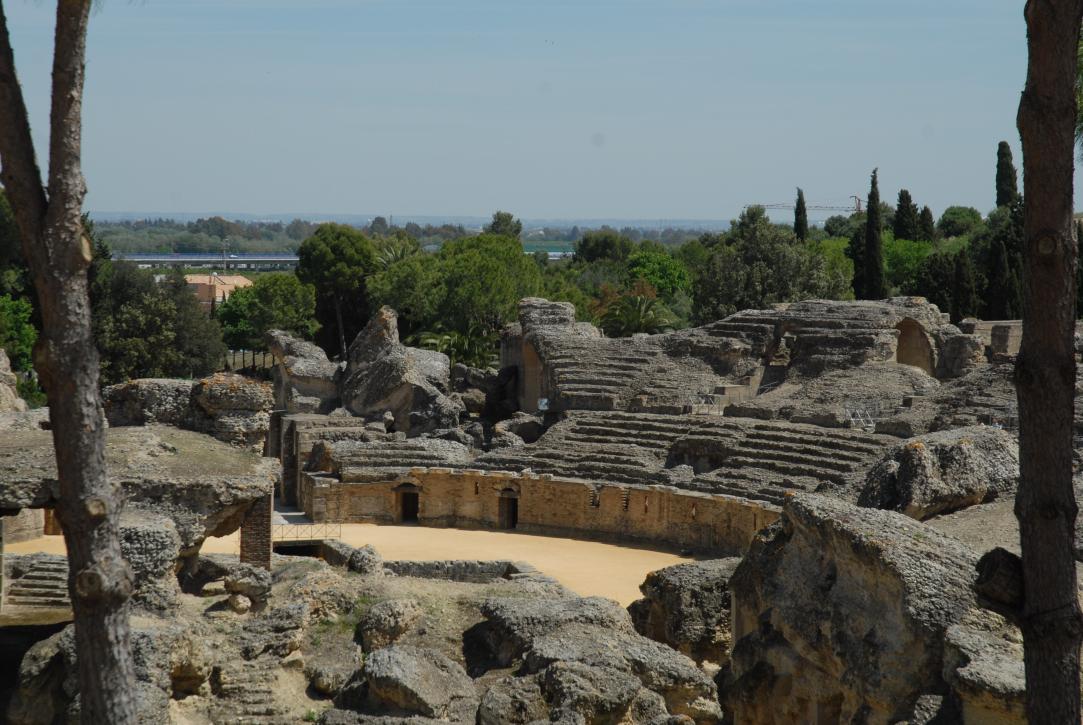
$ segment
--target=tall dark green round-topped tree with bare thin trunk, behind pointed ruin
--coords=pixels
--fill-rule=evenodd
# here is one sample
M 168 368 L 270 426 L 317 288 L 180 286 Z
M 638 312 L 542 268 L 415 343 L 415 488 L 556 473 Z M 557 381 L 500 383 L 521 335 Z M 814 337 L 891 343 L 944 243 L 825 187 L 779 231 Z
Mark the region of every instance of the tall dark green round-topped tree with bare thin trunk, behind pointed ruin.
M 345 224 L 321 224 L 297 251 L 297 276 L 316 289 L 316 338 L 345 357 L 368 321 L 365 280 L 376 271 L 376 249 L 368 237 Z

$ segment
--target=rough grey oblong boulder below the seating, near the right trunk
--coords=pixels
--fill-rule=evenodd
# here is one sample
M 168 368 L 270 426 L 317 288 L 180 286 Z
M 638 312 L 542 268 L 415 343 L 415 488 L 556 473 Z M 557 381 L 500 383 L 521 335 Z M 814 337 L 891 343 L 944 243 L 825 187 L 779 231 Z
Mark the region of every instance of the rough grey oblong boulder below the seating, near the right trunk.
M 865 477 L 858 504 L 924 520 L 1014 494 L 1019 446 L 989 426 L 911 438 L 889 449 Z

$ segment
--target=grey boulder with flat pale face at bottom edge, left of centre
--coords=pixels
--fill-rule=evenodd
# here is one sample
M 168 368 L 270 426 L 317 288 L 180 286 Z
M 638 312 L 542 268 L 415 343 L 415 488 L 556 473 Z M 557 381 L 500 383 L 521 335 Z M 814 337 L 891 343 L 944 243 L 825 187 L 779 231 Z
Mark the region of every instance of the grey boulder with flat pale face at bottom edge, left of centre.
M 442 652 L 408 646 L 378 649 L 362 670 L 368 686 L 364 710 L 371 714 L 421 715 L 473 722 L 473 681 Z

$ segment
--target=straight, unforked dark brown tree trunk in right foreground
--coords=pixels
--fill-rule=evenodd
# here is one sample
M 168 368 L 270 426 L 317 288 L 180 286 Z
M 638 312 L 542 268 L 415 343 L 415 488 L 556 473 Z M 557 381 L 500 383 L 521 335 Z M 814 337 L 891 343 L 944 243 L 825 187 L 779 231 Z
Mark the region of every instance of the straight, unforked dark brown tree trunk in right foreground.
M 1016 361 L 1021 474 L 1016 517 L 1022 544 L 1027 716 L 1039 725 L 1080 722 L 1072 171 L 1083 0 L 1030 0 L 1025 15 L 1030 63 L 1018 125 L 1027 260 Z

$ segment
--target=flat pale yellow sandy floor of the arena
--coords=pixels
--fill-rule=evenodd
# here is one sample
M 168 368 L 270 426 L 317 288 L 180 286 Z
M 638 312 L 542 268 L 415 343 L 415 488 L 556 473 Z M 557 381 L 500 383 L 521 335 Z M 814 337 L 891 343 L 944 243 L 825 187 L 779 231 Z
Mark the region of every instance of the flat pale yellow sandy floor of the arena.
M 575 539 L 535 536 L 507 531 L 431 529 L 418 526 L 342 525 L 342 541 L 371 544 L 386 559 L 511 559 L 529 561 L 583 596 L 603 596 L 628 605 L 639 598 L 648 572 L 688 561 L 673 553 Z M 236 554 L 237 534 L 208 539 L 208 554 Z M 61 536 L 8 544 L 5 553 L 64 553 Z

